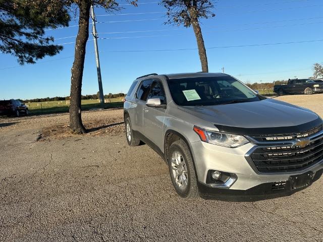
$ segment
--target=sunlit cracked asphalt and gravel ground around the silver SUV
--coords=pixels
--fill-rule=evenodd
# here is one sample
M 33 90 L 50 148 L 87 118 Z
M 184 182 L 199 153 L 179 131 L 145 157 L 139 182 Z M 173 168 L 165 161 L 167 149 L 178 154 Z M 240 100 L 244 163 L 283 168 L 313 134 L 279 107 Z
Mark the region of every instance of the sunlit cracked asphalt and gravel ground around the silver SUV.
M 323 94 L 280 97 L 323 116 Z M 83 114 L 122 119 L 122 110 Z M 290 197 L 183 200 L 119 133 L 36 141 L 68 115 L 0 122 L 0 241 L 323 241 L 323 178 Z M 117 121 L 116 121 L 117 122 Z

